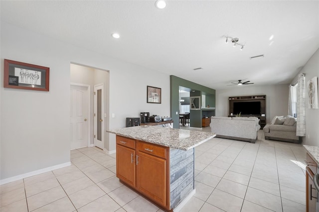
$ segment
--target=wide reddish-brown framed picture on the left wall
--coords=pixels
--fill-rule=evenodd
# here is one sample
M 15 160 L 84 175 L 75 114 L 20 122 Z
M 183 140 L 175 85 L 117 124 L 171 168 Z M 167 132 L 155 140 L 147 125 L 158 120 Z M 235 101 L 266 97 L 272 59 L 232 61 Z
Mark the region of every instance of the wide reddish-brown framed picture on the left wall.
M 4 59 L 3 87 L 49 91 L 50 68 Z

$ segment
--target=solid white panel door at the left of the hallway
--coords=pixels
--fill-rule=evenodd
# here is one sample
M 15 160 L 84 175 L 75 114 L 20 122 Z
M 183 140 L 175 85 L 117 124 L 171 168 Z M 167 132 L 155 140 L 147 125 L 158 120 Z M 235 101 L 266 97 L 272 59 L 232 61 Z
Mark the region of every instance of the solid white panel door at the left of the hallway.
M 88 88 L 70 86 L 71 149 L 88 146 Z

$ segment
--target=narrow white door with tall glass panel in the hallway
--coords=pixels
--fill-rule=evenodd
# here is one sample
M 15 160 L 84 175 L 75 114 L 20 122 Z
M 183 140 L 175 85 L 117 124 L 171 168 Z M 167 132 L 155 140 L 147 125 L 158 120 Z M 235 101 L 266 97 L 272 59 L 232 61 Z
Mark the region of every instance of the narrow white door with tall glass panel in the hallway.
M 104 149 L 104 92 L 103 84 L 94 86 L 94 145 Z

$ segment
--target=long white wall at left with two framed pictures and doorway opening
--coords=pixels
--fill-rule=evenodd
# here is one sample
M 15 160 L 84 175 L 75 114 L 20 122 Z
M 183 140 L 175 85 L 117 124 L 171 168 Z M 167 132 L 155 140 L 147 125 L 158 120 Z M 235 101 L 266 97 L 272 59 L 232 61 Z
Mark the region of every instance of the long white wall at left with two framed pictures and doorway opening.
M 169 116 L 169 75 L 91 52 L 1 22 L 0 81 L 3 59 L 50 68 L 50 91 L 0 88 L 0 179 L 70 161 L 70 63 L 110 71 L 107 127 L 125 127 L 125 117 L 141 111 Z M 157 80 L 154 81 L 154 76 Z M 143 81 L 141 78 L 143 77 Z M 147 85 L 161 88 L 161 104 L 147 104 Z M 108 135 L 109 133 L 107 133 Z M 115 149 L 110 134 L 108 150 Z

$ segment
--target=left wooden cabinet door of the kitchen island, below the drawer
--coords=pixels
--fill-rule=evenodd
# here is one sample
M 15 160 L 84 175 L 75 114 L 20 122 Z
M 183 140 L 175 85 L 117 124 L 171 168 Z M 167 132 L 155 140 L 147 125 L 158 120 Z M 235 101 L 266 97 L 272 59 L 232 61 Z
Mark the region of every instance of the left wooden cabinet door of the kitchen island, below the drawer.
M 135 150 L 116 145 L 116 176 L 131 185 L 136 187 L 136 165 L 135 165 Z

